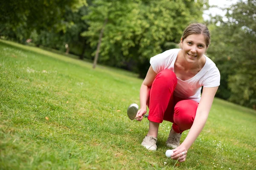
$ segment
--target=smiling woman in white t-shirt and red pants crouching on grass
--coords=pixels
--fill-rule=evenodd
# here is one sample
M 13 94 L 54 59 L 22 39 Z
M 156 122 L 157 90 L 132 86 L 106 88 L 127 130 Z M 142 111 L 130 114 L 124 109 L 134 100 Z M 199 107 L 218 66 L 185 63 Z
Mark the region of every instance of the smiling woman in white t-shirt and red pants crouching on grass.
M 140 88 L 140 110 L 137 121 L 149 108 L 148 134 L 142 145 L 157 149 L 157 133 L 163 120 L 172 122 L 168 147 L 172 159 L 185 161 L 187 150 L 203 129 L 220 85 L 220 73 L 211 59 L 206 57 L 210 44 L 207 26 L 190 24 L 180 39 L 181 49 L 171 49 L 150 59 L 151 66 Z M 201 87 L 204 86 L 201 95 Z M 180 144 L 181 133 L 189 130 Z M 180 145 L 179 145 L 180 144 Z

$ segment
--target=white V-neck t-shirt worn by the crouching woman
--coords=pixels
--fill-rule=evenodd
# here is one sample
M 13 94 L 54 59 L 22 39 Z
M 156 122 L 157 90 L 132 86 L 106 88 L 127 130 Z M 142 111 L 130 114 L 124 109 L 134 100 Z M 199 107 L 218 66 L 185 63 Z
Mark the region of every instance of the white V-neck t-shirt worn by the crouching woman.
M 174 63 L 179 51 L 180 49 L 171 49 L 151 57 L 150 64 L 154 72 L 158 74 L 165 69 L 175 72 Z M 174 91 L 175 96 L 195 100 L 199 103 L 202 86 L 212 88 L 220 85 L 221 76 L 218 68 L 211 59 L 205 55 L 204 57 L 206 58 L 204 67 L 194 77 L 186 81 L 177 77 L 177 85 Z

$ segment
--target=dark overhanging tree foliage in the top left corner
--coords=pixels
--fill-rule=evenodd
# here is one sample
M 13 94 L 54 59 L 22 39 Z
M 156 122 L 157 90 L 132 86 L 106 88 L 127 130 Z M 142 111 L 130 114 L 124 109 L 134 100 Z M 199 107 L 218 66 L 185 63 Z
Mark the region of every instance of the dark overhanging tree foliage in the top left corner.
M 2 0 L 0 1 L 0 34 L 12 33 L 24 42 L 32 31 L 50 30 L 52 26 L 63 28 L 65 7 L 74 11 L 86 4 L 86 0 Z M 20 30 L 22 32 L 20 32 Z

